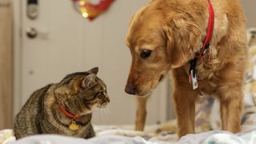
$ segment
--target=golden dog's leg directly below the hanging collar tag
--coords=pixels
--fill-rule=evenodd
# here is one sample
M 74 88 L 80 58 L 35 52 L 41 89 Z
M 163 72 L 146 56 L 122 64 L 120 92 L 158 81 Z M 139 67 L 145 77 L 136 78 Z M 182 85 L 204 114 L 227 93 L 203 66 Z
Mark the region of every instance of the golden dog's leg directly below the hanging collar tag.
M 197 91 L 189 86 L 176 86 L 174 103 L 178 120 L 178 136 L 194 133 L 195 98 Z

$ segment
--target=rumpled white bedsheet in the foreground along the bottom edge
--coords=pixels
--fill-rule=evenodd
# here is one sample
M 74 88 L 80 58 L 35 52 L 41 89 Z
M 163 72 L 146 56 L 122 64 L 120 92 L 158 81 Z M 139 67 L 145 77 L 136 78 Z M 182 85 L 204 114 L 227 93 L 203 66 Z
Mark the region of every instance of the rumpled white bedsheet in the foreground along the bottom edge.
M 118 135 L 102 135 L 95 138 L 71 138 L 61 135 L 46 134 L 34 135 L 27 138 L 19 139 L 11 142 L 12 144 L 167 144 L 170 142 L 154 141 L 154 139 L 146 140 L 142 137 L 126 137 Z M 213 130 L 200 134 L 187 134 L 175 144 L 255 144 L 256 130 L 242 133 L 231 134 L 228 131 Z

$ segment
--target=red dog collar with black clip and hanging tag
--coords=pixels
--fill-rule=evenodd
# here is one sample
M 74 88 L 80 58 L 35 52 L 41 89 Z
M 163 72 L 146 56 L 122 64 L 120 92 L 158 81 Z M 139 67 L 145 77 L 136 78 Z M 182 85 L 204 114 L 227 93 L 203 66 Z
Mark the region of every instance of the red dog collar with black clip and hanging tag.
M 198 81 L 197 81 L 196 72 L 195 72 L 197 59 L 202 58 L 202 56 L 206 54 L 206 51 L 210 46 L 210 40 L 214 32 L 214 8 L 210 0 L 207 0 L 207 2 L 208 2 L 208 10 L 209 10 L 209 20 L 208 20 L 206 39 L 205 39 L 205 42 L 203 43 L 202 48 L 195 54 L 194 59 L 190 60 L 189 80 L 190 80 L 190 83 L 192 83 L 194 90 L 198 88 Z

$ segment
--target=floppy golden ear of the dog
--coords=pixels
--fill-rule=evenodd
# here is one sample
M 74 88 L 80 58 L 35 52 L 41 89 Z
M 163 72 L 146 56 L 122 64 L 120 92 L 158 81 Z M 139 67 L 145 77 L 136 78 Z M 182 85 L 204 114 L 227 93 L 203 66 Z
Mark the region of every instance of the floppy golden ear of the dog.
M 164 22 L 163 30 L 167 40 L 167 57 L 169 57 L 172 68 L 183 66 L 194 58 L 194 53 L 199 49 L 202 38 L 194 22 L 182 16 L 175 16 L 170 21 Z

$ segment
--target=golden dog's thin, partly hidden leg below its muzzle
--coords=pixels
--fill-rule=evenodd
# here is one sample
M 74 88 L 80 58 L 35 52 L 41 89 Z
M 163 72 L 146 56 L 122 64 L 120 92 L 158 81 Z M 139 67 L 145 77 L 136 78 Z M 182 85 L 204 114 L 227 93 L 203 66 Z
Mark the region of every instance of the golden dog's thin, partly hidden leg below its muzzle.
M 140 98 L 137 96 L 137 112 L 135 120 L 135 130 L 143 131 L 146 123 L 146 102 L 147 98 Z

